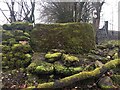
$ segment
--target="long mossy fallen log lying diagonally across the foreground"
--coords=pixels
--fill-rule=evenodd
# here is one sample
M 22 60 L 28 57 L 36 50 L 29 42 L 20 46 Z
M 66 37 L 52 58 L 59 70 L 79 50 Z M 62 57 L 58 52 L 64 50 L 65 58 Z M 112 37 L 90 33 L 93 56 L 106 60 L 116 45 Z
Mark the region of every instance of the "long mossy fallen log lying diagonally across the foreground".
M 91 77 L 96 77 L 96 78 L 100 77 L 101 74 L 106 73 L 110 69 L 116 68 L 118 65 L 120 65 L 120 59 L 111 60 L 106 64 L 104 64 L 103 67 L 96 68 L 93 71 L 84 71 L 69 77 L 65 77 L 60 80 L 56 80 L 55 82 L 38 84 L 37 88 L 63 88 L 72 85 L 80 80 L 84 80 Z

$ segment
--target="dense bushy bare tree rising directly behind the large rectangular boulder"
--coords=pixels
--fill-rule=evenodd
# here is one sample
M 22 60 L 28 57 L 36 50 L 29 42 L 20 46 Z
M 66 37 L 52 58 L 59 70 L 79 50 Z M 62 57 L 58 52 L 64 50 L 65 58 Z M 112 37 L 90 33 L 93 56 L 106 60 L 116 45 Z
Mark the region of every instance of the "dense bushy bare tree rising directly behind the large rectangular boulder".
M 83 15 L 89 17 L 85 14 L 90 10 L 87 7 L 89 4 L 89 2 L 41 2 L 43 10 L 40 14 L 48 22 L 80 22 L 84 19 Z M 87 22 L 87 20 L 82 21 Z

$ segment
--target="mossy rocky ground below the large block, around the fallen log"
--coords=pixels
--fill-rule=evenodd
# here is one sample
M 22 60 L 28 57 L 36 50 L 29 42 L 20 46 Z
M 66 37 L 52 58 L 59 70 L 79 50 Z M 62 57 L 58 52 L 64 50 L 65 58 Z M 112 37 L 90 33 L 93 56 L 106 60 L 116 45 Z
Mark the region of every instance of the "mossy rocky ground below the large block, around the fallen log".
M 96 49 L 89 53 L 69 54 L 64 50 L 52 49 L 47 53 L 33 53 L 32 61 L 26 68 L 3 70 L 2 80 L 4 88 L 27 88 L 40 83 L 60 80 L 79 72 L 92 71 L 102 67 L 110 60 L 118 58 L 119 43 L 109 41 L 97 45 Z M 93 82 L 91 79 L 79 81 L 66 88 L 119 88 L 120 70 L 116 67 L 104 73 Z

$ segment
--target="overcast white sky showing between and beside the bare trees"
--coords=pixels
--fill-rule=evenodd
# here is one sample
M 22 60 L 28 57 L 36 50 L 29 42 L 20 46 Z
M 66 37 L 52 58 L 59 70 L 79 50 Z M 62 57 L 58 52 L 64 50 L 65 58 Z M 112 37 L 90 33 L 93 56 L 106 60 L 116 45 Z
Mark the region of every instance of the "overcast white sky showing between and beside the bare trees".
M 7 0 L 7 1 L 10 1 L 10 0 Z M 119 1 L 120 0 L 105 0 L 106 3 L 103 5 L 102 12 L 101 12 L 100 28 L 103 26 L 104 21 L 108 21 L 109 30 L 112 30 L 112 29 L 118 30 L 118 2 Z M 0 8 L 3 10 L 8 10 L 8 7 L 6 4 L 3 3 L 3 0 L 0 0 Z M 37 9 L 38 8 L 36 8 L 36 11 L 35 11 L 36 23 L 39 23 L 39 20 L 37 20 L 39 16 Z M 9 15 L 7 11 L 5 12 L 5 14 Z M 0 24 L 4 24 L 4 23 L 7 23 L 7 21 L 2 15 L 2 13 L 0 12 Z

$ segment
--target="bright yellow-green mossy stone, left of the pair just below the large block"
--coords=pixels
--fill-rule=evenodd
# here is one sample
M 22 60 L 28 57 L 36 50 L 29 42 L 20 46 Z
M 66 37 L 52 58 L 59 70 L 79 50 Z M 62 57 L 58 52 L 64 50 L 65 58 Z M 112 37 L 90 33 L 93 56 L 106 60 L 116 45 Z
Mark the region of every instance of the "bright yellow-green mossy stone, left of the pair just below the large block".
M 61 57 L 61 53 L 57 52 L 57 53 L 47 53 L 45 55 L 45 58 L 48 60 L 48 62 L 54 62 L 56 60 L 59 60 Z

